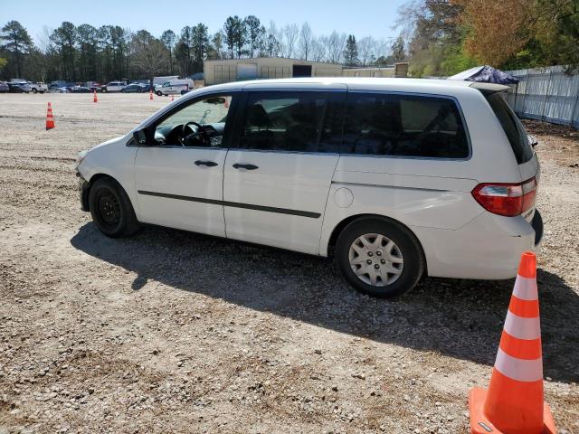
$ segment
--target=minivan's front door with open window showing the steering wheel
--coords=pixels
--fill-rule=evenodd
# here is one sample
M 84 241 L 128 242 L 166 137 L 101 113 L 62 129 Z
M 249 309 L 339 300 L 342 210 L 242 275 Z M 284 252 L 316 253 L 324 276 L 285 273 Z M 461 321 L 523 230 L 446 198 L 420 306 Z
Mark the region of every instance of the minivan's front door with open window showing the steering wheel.
M 225 235 L 223 165 L 232 99 L 187 101 L 151 126 L 154 142 L 139 146 L 135 160 L 140 221 Z

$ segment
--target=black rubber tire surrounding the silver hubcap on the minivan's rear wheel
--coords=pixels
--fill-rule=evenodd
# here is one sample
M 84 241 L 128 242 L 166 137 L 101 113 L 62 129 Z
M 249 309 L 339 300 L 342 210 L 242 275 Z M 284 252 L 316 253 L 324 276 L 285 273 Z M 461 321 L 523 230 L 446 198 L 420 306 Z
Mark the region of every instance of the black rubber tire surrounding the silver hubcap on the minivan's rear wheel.
M 392 283 L 384 286 L 366 283 L 356 276 L 350 265 L 349 252 L 354 241 L 362 235 L 373 233 L 384 235 L 384 237 L 394 241 L 403 258 L 400 275 Z M 368 259 L 373 261 L 374 267 L 380 267 L 376 261 L 383 260 L 378 259 L 377 256 Z M 425 267 L 422 248 L 413 233 L 399 223 L 376 217 L 362 217 L 350 222 L 344 228 L 337 239 L 335 260 L 342 277 L 349 285 L 368 296 L 382 298 L 400 297 L 410 291 L 422 277 Z M 360 268 L 362 267 L 360 266 Z M 400 266 L 397 265 L 396 267 Z

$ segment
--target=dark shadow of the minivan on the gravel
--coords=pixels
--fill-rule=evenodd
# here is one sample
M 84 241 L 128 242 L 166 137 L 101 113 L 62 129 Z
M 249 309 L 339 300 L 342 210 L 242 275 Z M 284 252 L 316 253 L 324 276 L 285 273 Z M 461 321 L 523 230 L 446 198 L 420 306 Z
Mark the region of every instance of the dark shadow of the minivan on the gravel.
M 148 279 L 255 310 L 268 311 L 376 342 L 494 363 L 513 280 L 425 278 L 391 302 L 356 293 L 333 262 L 185 231 L 146 227 L 128 239 L 103 236 L 92 223 L 71 244 Z M 543 269 L 537 280 L 545 375 L 579 381 L 579 297 Z

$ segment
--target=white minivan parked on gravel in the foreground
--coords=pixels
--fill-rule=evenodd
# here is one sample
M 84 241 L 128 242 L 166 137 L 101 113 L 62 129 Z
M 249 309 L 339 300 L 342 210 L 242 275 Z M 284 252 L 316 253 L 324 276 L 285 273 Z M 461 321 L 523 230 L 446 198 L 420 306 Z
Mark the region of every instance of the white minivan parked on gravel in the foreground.
M 109 237 L 150 223 L 333 257 L 376 297 L 425 275 L 513 278 L 543 223 L 539 164 L 505 90 L 360 78 L 195 90 L 81 153 L 81 207 Z

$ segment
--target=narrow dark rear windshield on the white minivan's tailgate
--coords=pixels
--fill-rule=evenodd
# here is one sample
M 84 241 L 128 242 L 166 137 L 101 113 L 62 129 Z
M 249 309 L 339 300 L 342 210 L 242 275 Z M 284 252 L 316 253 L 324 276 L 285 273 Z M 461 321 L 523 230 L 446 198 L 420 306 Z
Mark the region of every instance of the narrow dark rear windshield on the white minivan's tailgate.
M 508 107 L 507 102 L 500 93 L 486 95 L 486 98 L 489 101 L 490 108 L 497 115 L 500 125 L 505 130 L 508 142 L 517 158 L 517 163 L 519 165 L 527 163 L 533 157 L 533 148 L 528 142 L 527 132 L 523 124 L 518 120 L 513 110 Z

